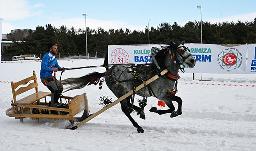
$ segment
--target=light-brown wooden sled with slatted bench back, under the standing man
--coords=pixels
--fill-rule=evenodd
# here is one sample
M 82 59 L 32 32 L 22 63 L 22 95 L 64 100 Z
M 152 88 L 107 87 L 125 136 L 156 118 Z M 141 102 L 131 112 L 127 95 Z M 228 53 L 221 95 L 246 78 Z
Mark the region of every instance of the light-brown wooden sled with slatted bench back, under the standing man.
M 34 82 L 30 82 L 33 80 Z M 20 85 L 26 85 L 26 87 L 20 87 L 15 91 Z M 58 118 L 68 119 L 73 124 L 74 118 L 76 114 L 84 110 L 83 118 L 88 117 L 88 100 L 86 97 L 86 93 L 82 95 L 76 95 L 75 97 L 61 96 L 62 99 L 67 100 L 68 108 L 58 108 L 58 107 L 50 107 L 49 103 L 46 100 L 47 96 L 51 96 L 52 93 L 38 91 L 38 83 L 36 82 L 36 74 L 33 71 L 33 75 L 16 83 L 11 82 L 12 86 L 12 107 L 6 110 L 6 115 L 10 117 L 15 117 L 15 119 L 20 119 L 20 122 L 23 122 L 23 118 L 32 118 L 35 119 L 38 123 L 39 118 L 50 118 L 54 122 Z M 33 93 L 27 97 L 24 97 L 20 100 L 16 100 L 16 96 L 24 93 L 30 89 L 36 89 L 36 93 Z M 44 99 L 44 102 L 40 102 L 40 99 Z M 67 105 L 66 105 L 67 106 Z M 35 113 L 35 111 L 39 111 Z M 58 112 L 58 114 L 52 114 L 54 112 Z

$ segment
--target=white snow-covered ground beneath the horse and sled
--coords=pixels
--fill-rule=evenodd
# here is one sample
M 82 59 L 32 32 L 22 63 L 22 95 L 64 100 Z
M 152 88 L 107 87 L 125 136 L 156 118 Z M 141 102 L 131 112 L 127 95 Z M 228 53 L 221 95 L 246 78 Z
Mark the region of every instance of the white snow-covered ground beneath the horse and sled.
M 62 60 L 59 64 L 65 68 L 93 66 L 102 65 L 103 60 Z M 1 151 L 256 150 L 256 75 L 202 74 L 202 79 L 211 81 L 198 81 L 192 80 L 192 74 L 179 73 L 181 79 L 177 96 L 183 99 L 183 114 L 170 118 L 170 114 L 160 116 L 149 112 L 151 106 L 157 106 L 158 101 L 150 97 L 145 107 L 145 120 L 132 114 L 145 130 L 143 134 L 139 134 L 123 114 L 119 104 L 76 130 L 64 129 L 69 123 L 67 120 L 57 120 L 54 124 L 52 120 L 40 119 L 39 124 L 36 124 L 35 120 L 25 118 L 22 124 L 20 120 L 8 117 L 5 110 L 11 107 L 12 91 L 7 82 L 29 77 L 33 70 L 40 82 L 40 65 L 40 62 L 6 62 L 0 65 Z M 80 77 L 93 71 L 104 72 L 104 69 L 67 70 L 62 79 Z M 57 77 L 59 76 L 58 72 Z M 235 84 L 243 86 L 234 86 Z M 103 107 L 98 104 L 100 95 L 117 99 L 105 83 L 101 90 L 98 87 L 91 85 L 68 91 L 64 95 L 75 96 L 86 92 L 89 110 L 93 113 Z M 42 83 L 39 83 L 38 89 L 49 91 Z M 22 93 L 18 99 L 29 93 L 32 91 Z M 141 99 L 139 96 L 136 98 Z M 177 106 L 176 103 L 175 105 Z

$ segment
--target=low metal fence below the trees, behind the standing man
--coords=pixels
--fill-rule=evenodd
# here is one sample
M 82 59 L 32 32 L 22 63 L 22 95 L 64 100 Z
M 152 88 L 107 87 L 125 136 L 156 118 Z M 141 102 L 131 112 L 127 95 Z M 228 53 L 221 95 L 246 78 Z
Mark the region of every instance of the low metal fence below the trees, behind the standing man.
M 57 54 L 57 60 L 70 60 L 70 59 L 97 59 L 97 58 L 105 58 L 106 57 L 106 53 L 88 53 L 86 54 L 61 54 L 58 53 Z M 13 56 L 13 55 L 12 55 Z M 12 56 L 2 56 L 1 55 L 1 61 L 12 61 Z M 20 55 L 22 56 L 22 55 Z M 40 60 L 42 60 L 44 54 L 40 54 L 39 58 Z

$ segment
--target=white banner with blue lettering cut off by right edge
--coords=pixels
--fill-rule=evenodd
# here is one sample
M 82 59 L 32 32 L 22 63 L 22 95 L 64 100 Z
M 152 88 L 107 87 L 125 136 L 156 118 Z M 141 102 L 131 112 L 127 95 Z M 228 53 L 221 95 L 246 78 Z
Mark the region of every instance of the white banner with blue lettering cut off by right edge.
M 246 74 L 256 74 L 256 44 L 247 45 L 248 61 L 246 65 Z

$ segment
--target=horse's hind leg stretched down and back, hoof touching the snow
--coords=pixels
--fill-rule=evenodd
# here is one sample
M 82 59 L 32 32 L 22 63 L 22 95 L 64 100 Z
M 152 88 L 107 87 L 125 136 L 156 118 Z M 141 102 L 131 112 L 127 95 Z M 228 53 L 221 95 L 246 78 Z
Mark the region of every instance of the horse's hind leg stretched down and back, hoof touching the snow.
M 127 101 L 126 99 L 122 100 L 120 102 L 121 104 L 121 108 L 122 108 L 122 111 L 125 113 L 125 115 L 127 116 L 127 118 L 129 118 L 129 120 L 131 121 L 131 123 L 133 124 L 133 126 L 135 128 L 137 128 L 137 132 L 139 133 L 144 133 L 144 130 L 143 128 L 141 128 L 141 126 L 139 126 L 139 124 L 137 122 L 135 122 L 135 120 L 131 117 L 131 114 L 129 112 L 129 108 L 127 106 Z

